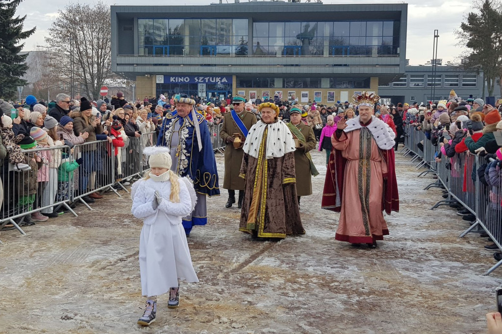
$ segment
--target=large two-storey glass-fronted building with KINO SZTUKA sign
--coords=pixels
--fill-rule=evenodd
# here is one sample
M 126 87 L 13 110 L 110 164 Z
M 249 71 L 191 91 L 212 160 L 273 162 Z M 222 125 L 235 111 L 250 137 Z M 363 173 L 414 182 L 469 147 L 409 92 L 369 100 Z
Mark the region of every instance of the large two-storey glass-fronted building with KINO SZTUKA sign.
M 349 100 L 405 72 L 407 5 L 111 6 L 112 71 L 138 98 Z

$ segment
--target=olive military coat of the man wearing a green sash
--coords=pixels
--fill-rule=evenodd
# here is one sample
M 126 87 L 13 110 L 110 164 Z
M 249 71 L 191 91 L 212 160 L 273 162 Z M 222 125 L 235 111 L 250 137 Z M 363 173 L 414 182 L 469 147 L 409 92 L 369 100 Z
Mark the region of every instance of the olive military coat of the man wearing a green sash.
M 296 193 L 298 196 L 308 196 L 312 195 L 312 175 L 310 174 L 310 162 L 305 153 L 314 149 L 317 141 L 312 127 L 303 122 L 300 122 L 296 127 L 305 137 L 305 144 L 295 151 Z

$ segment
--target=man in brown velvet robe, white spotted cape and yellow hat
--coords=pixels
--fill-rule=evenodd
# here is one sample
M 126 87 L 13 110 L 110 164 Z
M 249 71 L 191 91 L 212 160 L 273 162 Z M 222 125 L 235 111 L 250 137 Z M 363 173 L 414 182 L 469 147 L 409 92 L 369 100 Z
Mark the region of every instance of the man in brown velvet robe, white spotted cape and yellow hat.
M 259 238 L 286 238 L 304 234 L 296 197 L 295 141 L 278 119 L 279 107 L 258 107 L 262 118 L 249 129 L 242 149 L 240 177 L 244 200 L 239 231 Z

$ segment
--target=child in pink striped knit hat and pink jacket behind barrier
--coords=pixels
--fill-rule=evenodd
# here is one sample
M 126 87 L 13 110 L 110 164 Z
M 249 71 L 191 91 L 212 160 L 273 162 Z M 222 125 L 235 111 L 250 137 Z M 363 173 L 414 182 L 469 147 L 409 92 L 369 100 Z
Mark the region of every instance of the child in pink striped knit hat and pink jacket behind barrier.
M 37 141 L 37 148 L 49 147 L 47 132 L 40 127 L 32 127 L 30 136 Z M 52 161 L 52 156 L 50 150 L 37 151 L 35 154 L 42 159 L 42 166 L 38 169 L 37 173 L 38 190 L 37 198 L 34 203 L 34 208 L 37 209 L 42 205 L 42 193 L 49 182 L 49 162 Z M 45 222 L 47 219 L 49 219 L 49 217 L 42 215 L 40 211 L 32 213 L 32 220 L 34 222 Z

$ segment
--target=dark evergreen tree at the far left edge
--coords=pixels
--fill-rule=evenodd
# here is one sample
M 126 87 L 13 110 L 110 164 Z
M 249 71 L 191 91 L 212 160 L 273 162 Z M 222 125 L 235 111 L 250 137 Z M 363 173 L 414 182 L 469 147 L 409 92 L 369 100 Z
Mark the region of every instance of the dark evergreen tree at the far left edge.
M 0 0 L 0 97 L 16 96 L 17 86 L 24 86 L 26 80 L 21 76 L 26 73 L 25 64 L 28 54 L 20 55 L 24 43 L 34 32 L 35 28 L 23 31 L 24 17 L 15 16 L 16 8 L 23 0 Z

